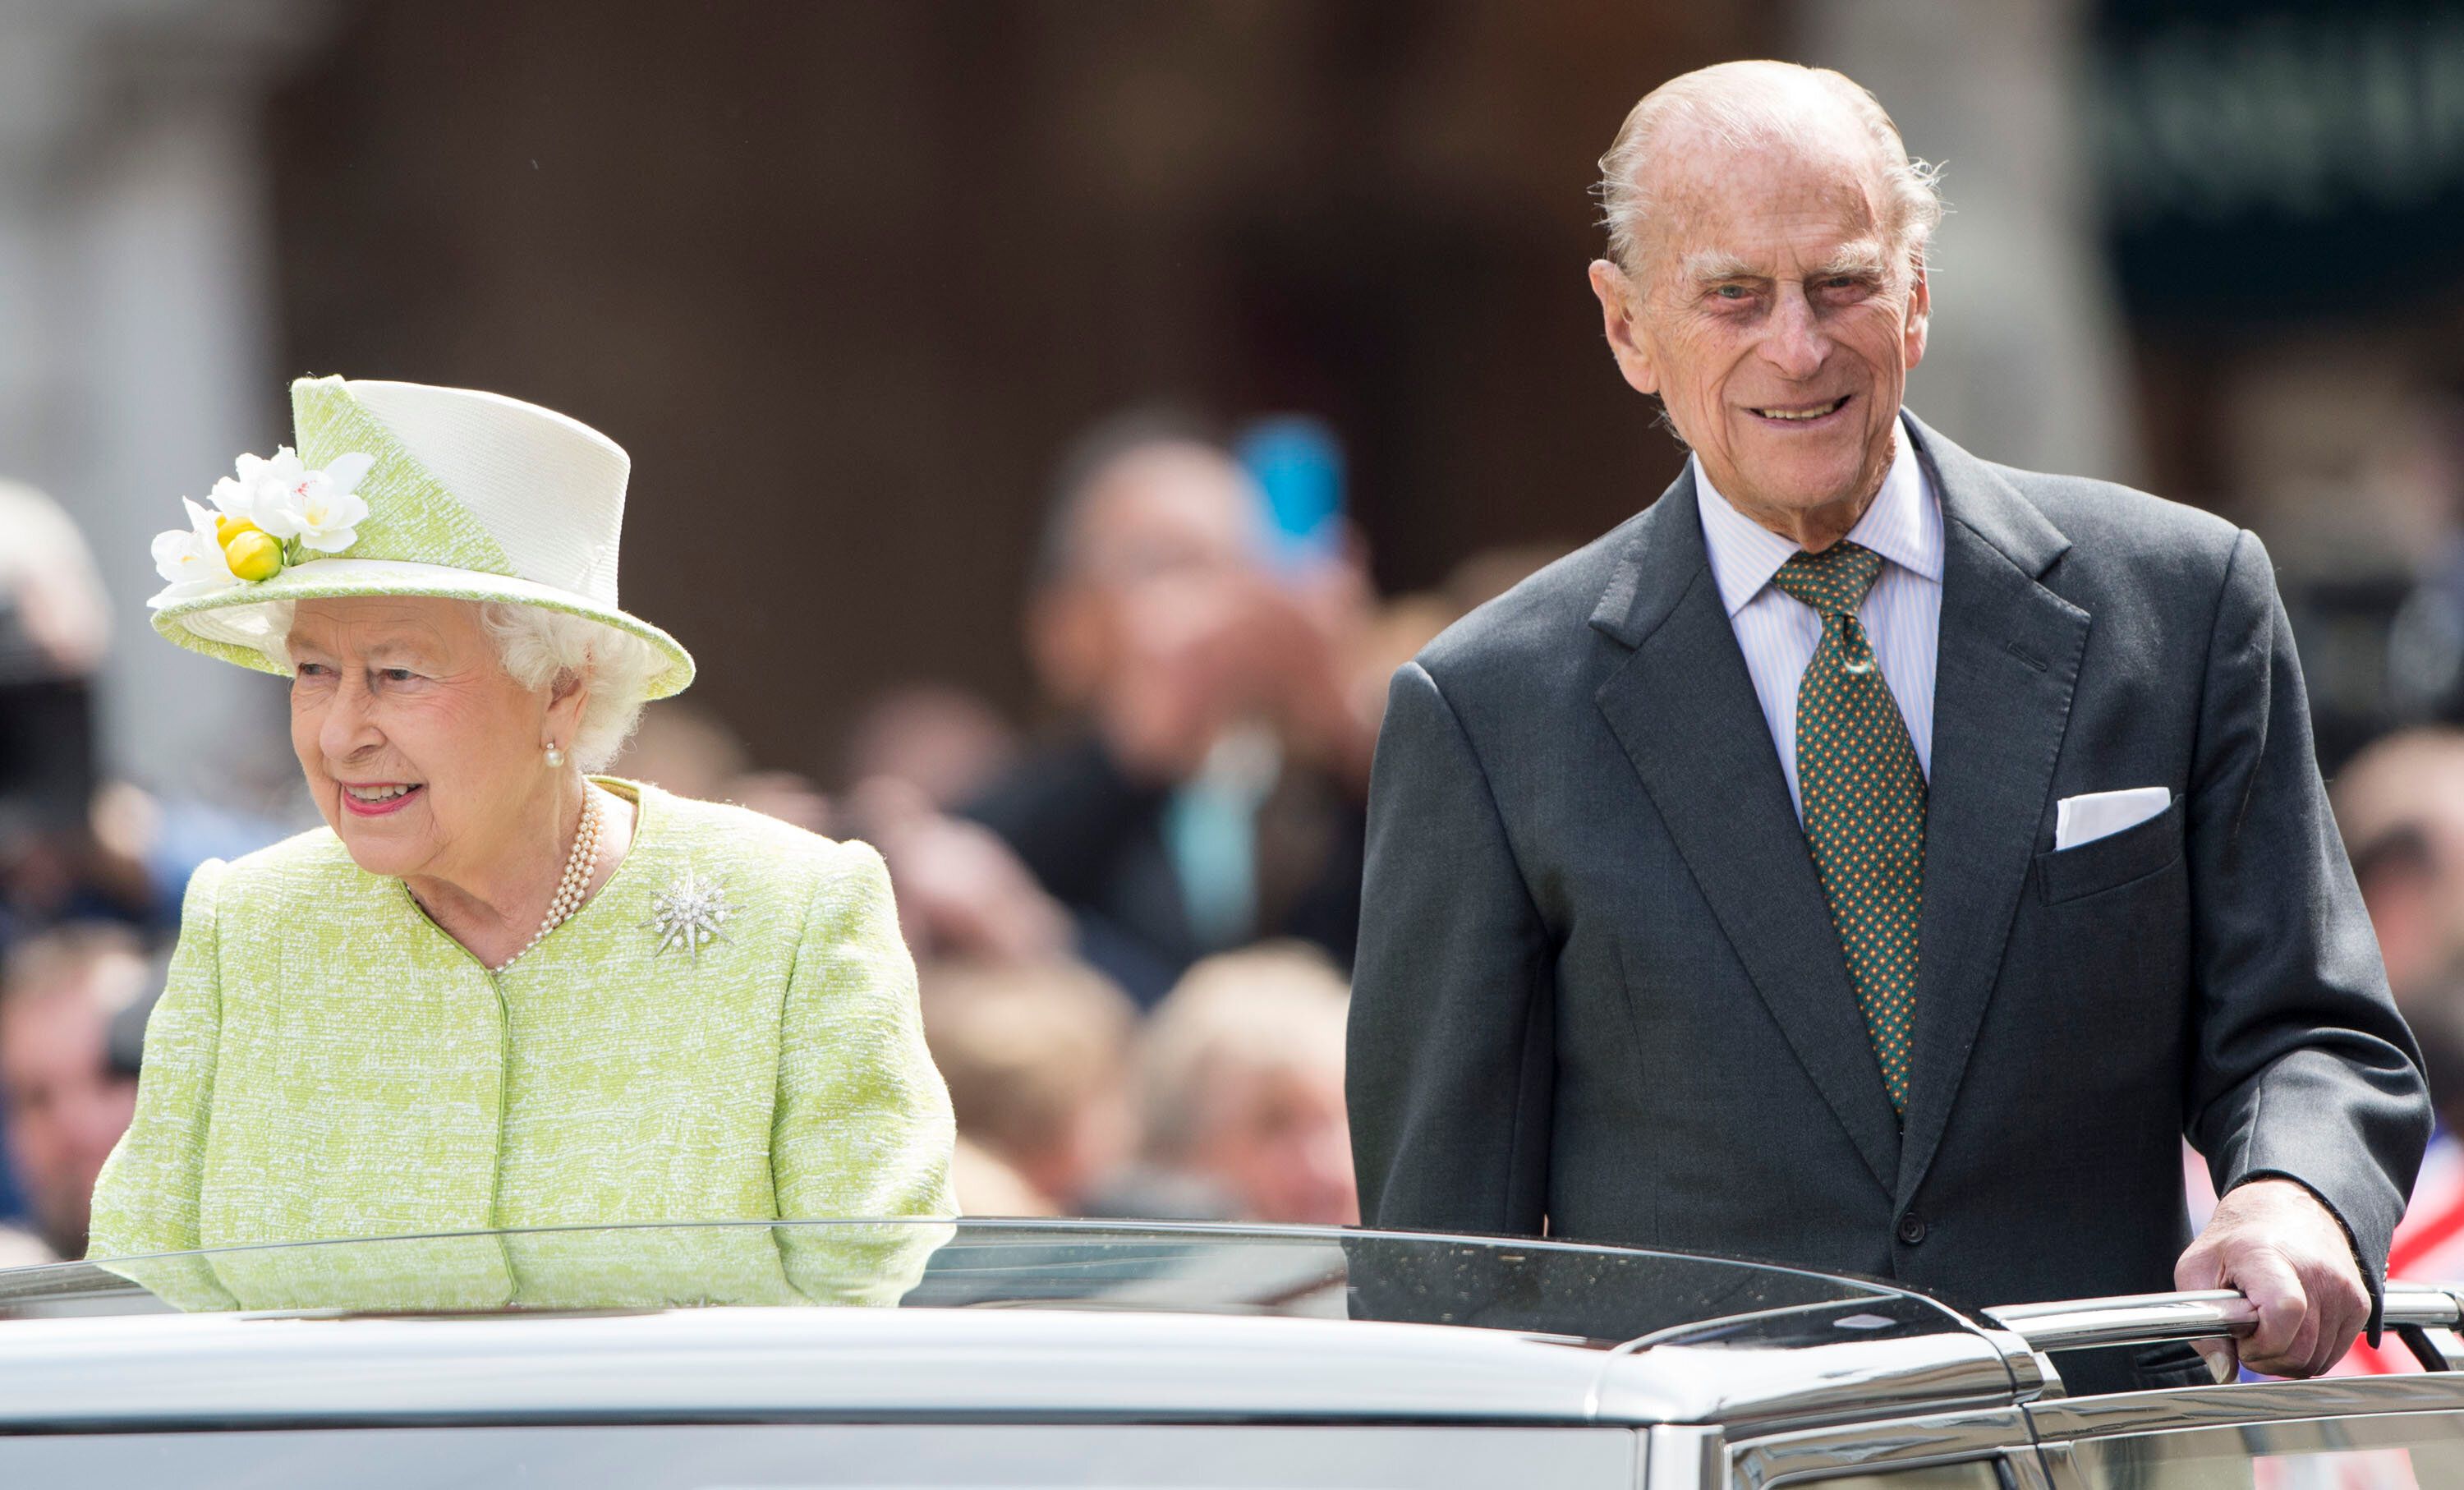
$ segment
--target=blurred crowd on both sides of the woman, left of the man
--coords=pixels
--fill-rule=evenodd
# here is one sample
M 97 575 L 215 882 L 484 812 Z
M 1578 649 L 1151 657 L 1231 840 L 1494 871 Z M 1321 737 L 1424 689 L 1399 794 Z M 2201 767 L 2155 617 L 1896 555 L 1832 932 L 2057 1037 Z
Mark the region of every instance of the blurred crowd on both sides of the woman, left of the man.
M 76 527 L 0 488 L 0 1263 L 79 1256 L 207 857 L 315 823 L 99 768 L 106 603 Z M 1133 411 L 1057 461 L 1018 638 L 1037 699 L 870 699 L 830 781 L 692 697 L 614 773 L 890 862 L 968 1214 L 1358 1222 L 1343 1027 L 1387 675 L 1552 552 L 1377 596 L 1333 436 Z M 241 810 L 244 808 L 244 810 Z

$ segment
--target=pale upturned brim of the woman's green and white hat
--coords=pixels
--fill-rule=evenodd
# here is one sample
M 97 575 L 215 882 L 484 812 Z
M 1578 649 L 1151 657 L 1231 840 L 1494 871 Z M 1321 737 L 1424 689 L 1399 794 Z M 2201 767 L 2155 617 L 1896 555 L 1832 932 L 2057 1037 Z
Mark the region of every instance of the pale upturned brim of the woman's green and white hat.
M 510 574 L 478 574 L 448 564 L 414 564 L 407 559 L 313 559 L 293 564 L 274 579 L 234 584 L 205 596 L 187 596 L 158 606 L 155 630 L 192 653 L 239 662 L 256 672 L 283 675 L 283 665 L 266 650 L 274 635 L 274 606 L 281 601 L 338 601 L 360 596 L 426 596 L 441 601 L 513 601 L 582 616 L 601 626 L 614 626 L 626 635 L 638 635 L 668 660 L 650 675 L 648 697 L 665 699 L 685 692 L 692 682 L 692 653 L 673 635 L 626 616 L 614 606 L 601 606 L 589 596 L 552 584 L 513 579 Z

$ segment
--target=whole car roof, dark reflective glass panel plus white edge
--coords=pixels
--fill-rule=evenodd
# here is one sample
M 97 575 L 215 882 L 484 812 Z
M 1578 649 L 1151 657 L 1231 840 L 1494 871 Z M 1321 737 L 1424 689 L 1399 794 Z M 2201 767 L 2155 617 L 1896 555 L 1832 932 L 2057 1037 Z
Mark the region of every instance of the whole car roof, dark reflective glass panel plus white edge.
M 850 1244 L 880 1236 L 894 1246 Z M 515 1281 L 478 1308 L 453 1295 L 461 1271 L 436 1266 L 439 1241 L 5 1271 L 0 1426 L 1777 1426 L 2006 1404 L 2043 1384 L 2025 1342 L 1887 1283 L 1565 1241 L 1116 1222 L 458 1234 L 448 1241 L 503 1256 Z M 749 1256 L 890 1256 L 914 1273 L 899 1276 L 899 1308 L 788 1308 L 712 1283 L 749 1278 Z M 165 1268 L 202 1268 L 256 1308 L 170 1313 L 138 1283 L 163 1286 Z

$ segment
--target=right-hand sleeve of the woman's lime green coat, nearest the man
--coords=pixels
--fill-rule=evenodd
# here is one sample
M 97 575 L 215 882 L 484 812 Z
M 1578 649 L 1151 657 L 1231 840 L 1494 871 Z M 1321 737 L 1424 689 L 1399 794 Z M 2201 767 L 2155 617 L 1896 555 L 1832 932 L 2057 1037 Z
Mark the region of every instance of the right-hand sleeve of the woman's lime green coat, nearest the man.
M 949 1089 L 924 1049 L 890 869 L 838 845 L 806 914 L 779 1032 L 779 1217 L 951 1217 Z M 786 1231 L 788 1278 L 821 1303 L 894 1303 L 949 1226 Z

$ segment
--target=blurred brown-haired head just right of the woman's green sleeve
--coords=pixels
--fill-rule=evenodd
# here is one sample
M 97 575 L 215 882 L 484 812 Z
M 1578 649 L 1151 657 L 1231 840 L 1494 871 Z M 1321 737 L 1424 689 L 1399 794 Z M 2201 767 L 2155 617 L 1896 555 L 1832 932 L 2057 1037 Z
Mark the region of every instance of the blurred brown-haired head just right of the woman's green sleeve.
M 1136 1143 L 1136 1005 L 1062 958 L 926 963 L 919 988 L 924 1042 L 958 1113 L 958 1204 L 971 1217 L 1082 1214 Z

